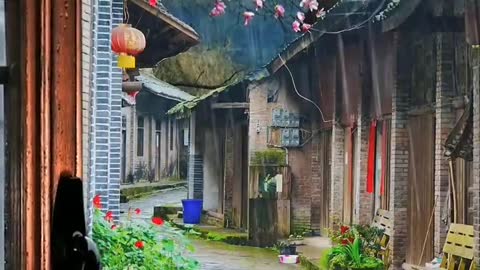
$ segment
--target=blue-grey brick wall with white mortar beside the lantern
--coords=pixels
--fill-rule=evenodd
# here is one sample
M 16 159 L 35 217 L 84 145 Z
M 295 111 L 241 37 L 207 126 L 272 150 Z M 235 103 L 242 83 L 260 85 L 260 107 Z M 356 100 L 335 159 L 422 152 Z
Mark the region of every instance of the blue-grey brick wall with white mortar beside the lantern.
M 122 73 L 110 48 L 111 30 L 123 22 L 122 0 L 95 2 L 90 133 L 91 186 L 100 195 L 103 211 L 120 214 Z M 93 196 L 92 194 L 92 196 Z

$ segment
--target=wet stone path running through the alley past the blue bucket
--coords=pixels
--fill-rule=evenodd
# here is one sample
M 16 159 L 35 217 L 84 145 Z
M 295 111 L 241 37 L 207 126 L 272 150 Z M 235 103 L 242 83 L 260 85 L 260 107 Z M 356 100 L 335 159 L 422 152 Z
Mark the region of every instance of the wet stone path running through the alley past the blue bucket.
M 181 200 L 187 197 L 186 188 L 160 191 L 152 196 L 133 200 L 121 205 L 122 218 L 129 208 L 142 210 L 141 217 L 150 219 L 153 207 L 161 205 L 181 206 Z M 195 257 L 202 270 L 288 270 L 300 269 L 300 266 L 281 265 L 276 254 L 270 250 L 232 246 L 224 243 L 193 240 Z

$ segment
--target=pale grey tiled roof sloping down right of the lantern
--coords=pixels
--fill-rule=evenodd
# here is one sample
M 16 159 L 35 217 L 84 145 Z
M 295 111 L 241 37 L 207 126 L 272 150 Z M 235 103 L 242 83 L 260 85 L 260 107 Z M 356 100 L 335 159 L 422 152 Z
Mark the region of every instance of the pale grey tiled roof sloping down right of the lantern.
M 136 79 L 143 83 L 145 90 L 166 99 L 182 102 L 194 98 L 194 96 L 180 90 L 178 87 L 156 78 L 150 68 L 140 69 L 140 75 L 136 76 Z

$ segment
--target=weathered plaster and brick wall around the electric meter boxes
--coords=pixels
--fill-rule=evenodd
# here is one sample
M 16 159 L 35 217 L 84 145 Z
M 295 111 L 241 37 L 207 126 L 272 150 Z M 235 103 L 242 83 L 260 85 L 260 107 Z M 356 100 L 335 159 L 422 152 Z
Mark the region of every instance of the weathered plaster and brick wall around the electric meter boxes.
M 308 66 L 292 65 L 298 91 L 308 91 Z M 307 76 L 306 76 L 306 75 Z M 306 77 L 305 77 L 306 76 Z M 303 101 L 293 89 L 292 79 L 283 70 L 258 85 L 250 85 L 249 156 L 271 147 L 267 143 L 267 127 L 272 123 L 272 110 L 282 108 L 310 116 L 312 105 Z M 278 89 L 276 102 L 267 102 L 269 88 Z M 310 129 L 310 127 L 307 127 Z M 293 229 L 310 229 L 311 219 L 311 142 L 301 148 L 288 149 L 288 165 L 292 172 L 291 218 Z

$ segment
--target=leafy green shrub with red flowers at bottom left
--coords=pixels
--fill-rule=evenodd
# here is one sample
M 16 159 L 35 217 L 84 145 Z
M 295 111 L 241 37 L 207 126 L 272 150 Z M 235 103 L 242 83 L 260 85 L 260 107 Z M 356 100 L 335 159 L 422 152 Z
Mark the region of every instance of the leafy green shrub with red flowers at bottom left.
M 104 216 L 95 210 L 93 239 L 102 256 L 103 269 L 199 269 L 199 263 L 188 257 L 193 247 L 183 233 L 160 218 L 152 221 L 150 224 L 129 220 L 116 226 L 110 212 Z

